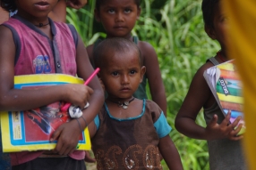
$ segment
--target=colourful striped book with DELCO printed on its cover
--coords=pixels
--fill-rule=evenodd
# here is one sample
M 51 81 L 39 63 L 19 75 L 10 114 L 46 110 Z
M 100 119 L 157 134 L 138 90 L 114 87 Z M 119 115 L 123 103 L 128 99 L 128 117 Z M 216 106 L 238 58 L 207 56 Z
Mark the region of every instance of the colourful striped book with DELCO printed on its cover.
M 239 134 L 243 134 L 245 132 L 243 94 L 241 81 L 235 69 L 235 61 L 226 61 L 211 67 L 204 71 L 203 77 L 223 114 L 226 116 L 228 110 L 231 111 L 230 123 L 233 123 L 236 117 L 242 117 L 239 124 L 243 124 L 243 127 Z

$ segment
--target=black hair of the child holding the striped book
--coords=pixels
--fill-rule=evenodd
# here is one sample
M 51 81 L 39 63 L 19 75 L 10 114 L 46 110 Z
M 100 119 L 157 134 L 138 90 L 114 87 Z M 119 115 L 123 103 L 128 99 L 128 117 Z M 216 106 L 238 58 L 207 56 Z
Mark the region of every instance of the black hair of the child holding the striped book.
M 201 11 L 205 27 L 214 28 L 213 20 L 219 0 L 202 0 Z

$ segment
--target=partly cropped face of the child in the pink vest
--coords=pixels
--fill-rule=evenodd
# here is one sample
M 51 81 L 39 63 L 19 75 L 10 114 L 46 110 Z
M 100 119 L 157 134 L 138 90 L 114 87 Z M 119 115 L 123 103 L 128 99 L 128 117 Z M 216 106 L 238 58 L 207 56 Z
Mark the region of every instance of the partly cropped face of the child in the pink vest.
M 58 0 L 16 0 L 19 15 L 30 21 L 46 18 L 57 2 Z

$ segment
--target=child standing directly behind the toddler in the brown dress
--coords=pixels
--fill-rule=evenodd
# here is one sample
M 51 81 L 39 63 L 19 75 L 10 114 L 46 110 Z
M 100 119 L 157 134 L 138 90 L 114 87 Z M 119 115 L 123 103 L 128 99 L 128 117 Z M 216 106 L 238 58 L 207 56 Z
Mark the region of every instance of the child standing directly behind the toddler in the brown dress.
M 139 99 L 147 99 L 146 84 L 149 80 L 149 89 L 152 100 L 164 111 L 166 115 L 166 93 L 158 66 L 158 56 L 152 45 L 140 41 L 137 36 L 132 36 L 132 28 L 140 17 L 140 0 L 96 0 L 95 18 L 102 23 L 106 30 L 107 38 L 123 37 L 130 39 L 141 50 L 142 63 L 147 71 L 138 90 L 133 94 Z M 87 47 L 90 61 L 93 64 L 93 52 L 101 40 Z

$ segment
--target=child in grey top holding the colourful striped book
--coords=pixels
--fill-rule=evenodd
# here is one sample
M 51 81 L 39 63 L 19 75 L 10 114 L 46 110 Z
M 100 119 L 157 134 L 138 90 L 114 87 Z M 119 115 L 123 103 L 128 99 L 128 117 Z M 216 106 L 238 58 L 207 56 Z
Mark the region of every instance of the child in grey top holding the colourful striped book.
M 175 118 L 175 127 L 180 133 L 189 137 L 208 141 L 211 170 L 244 170 L 246 168 L 240 141 L 243 136 L 236 135 L 242 127 L 238 125 L 241 117 L 233 124 L 229 124 L 230 113 L 224 117 L 203 77 L 206 69 L 228 60 L 226 57 L 228 16 L 221 8 L 220 0 L 203 0 L 201 8 L 205 31 L 211 39 L 218 41 L 221 50 L 202 65 L 193 77 L 183 105 Z M 205 128 L 195 123 L 201 108 L 204 109 L 207 123 Z M 234 129 L 236 125 L 238 128 Z

